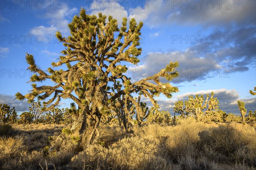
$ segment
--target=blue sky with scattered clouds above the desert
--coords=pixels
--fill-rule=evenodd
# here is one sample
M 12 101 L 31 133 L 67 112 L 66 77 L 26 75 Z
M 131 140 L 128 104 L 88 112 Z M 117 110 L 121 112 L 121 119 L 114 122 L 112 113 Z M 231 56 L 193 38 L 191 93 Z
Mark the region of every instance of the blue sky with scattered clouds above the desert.
M 2 0 L 1 103 L 18 111 L 28 109 L 26 102 L 12 101 L 16 92 L 31 90 L 25 53 L 33 54 L 47 70 L 64 49 L 55 32 L 69 35 L 67 24 L 81 7 L 87 14 L 112 15 L 119 23 L 122 17 L 143 21 L 140 63 L 128 65 L 133 81 L 157 73 L 171 61 L 180 63 L 180 77 L 170 82 L 179 92 L 171 99 L 160 96 L 161 109 L 172 112 L 177 100 L 214 91 L 227 113 L 239 114 L 237 100 L 244 101 L 247 110 L 256 110 L 256 96 L 249 94 L 256 86 L 255 0 Z M 60 107 L 70 102 L 62 100 Z

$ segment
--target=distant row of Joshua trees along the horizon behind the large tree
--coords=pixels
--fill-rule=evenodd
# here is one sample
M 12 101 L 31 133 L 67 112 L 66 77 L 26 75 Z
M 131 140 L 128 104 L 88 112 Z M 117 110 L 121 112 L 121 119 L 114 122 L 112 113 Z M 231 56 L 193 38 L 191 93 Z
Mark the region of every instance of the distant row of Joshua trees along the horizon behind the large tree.
M 212 92 L 211 96 L 207 94 L 205 99 L 203 95 L 195 97 L 189 96 L 186 101 L 177 101 L 174 104 L 174 116 L 169 111 L 160 111 L 159 107 L 148 108 L 146 103 L 140 102 L 140 95 L 134 98 L 140 103 L 142 114 L 140 118 L 137 116 L 136 106 L 131 102 L 125 105 L 117 105 L 111 111 L 108 111 L 102 116 L 100 120 L 104 125 L 119 125 L 124 130 L 131 131 L 134 124 L 141 123 L 158 123 L 166 125 L 176 125 L 182 119 L 193 118 L 197 122 L 242 122 L 245 124 L 253 123 L 256 121 L 256 111 L 249 111 L 245 109 L 244 102 L 238 101 L 238 108 L 241 116 L 236 116 L 233 113 L 226 113 L 219 109 L 219 102 L 217 97 L 214 97 Z M 127 101 L 128 102 L 128 101 Z M 15 108 L 10 108 L 9 105 L 0 104 L 0 122 L 9 124 L 31 124 L 31 123 L 44 123 L 44 124 L 72 124 L 79 117 L 79 109 L 76 108 L 75 103 L 70 104 L 70 108 L 51 108 L 50 111 L 44 113 L 44 106 L 40 101 L 33 102 L 29 111 L 20 114 L 18 118 Z M 178 114 L 175 115 L 175 113 Z M 89 122 L 93 124 L 93 120 Z

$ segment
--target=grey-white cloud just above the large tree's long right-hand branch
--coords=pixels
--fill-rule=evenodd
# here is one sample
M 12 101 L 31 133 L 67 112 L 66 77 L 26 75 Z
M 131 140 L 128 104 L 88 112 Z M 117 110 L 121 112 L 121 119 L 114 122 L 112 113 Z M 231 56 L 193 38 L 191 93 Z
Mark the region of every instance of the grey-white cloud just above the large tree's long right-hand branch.
M 221 67 L 215 60 L 199 58 L 197 53 L 188 50 L 167 53 L 149 53 L 141 59 L 140 63 L 143 63 L 142 65 L 130 66 L 128 71 L 129 73 L 133 73 L 134 70 L 137 71 L 137 75 L 132 77 L 134 81 L 137 81 L 143 77 L 158 73 L 161 69 L 165 68 L 169 62 L 176 61 L 178 61 L 180 65 L 176 68 L 180 75 L 172 80 L 173 83 L 191 82 L 196 79 L 203 80 L 211 76 L 211 71 L 215 72 Z M 138 71 L 142 73 L 140 77 L 138 76 L 140 73 Z M 131 76 L 133 76 L 133 74 L 131 74 Z

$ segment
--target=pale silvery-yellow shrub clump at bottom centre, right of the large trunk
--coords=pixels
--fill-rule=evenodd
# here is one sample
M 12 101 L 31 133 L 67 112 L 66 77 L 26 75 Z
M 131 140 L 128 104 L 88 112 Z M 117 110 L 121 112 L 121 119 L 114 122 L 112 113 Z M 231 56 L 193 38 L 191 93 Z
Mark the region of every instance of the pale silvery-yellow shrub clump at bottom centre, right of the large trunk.
M 119 140 L 109 146 L 90 145 L 83 152 L 73 157 L 71 167 L 82 169 L 165 169 L 167 163 L 163 158 L 154 156 L 157 142 L 151 137 L 130 137 Z

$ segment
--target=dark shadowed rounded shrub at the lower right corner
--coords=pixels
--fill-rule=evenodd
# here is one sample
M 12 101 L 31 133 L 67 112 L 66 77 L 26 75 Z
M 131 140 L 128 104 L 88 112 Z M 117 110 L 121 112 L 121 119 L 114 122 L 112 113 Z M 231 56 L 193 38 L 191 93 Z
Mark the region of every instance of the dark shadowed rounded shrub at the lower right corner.
M 256 132 L 250 126 L 225 124 L 199 133 L 198 148 L 212 161 L 256 166 Z

